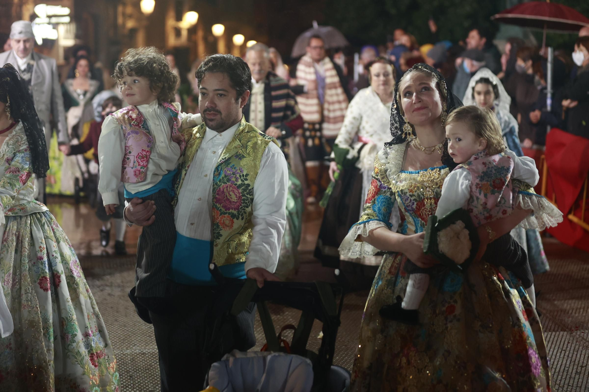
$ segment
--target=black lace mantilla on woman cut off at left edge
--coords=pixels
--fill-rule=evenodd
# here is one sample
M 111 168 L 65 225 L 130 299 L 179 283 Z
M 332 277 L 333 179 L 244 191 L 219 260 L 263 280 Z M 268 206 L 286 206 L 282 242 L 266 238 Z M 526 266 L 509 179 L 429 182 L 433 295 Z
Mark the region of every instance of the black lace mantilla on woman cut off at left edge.
M 31 151 L 32 172 L 39 178 L 45 178 L 49 170 L 45 132 L 31 94 L 12 64 L 0 68 L 0 101 L 8 106 L 10 116 L 15 121 L 20 121 L 25 129 Z

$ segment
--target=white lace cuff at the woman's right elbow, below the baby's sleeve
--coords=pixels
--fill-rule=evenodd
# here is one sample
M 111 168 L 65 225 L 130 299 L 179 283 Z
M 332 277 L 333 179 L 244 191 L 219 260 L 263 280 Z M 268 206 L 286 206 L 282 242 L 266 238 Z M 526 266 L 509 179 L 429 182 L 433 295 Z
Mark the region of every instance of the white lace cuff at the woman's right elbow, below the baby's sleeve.
M 519 191 L 515 205 L 523 210 L 533 211 L 519 223 L 518 227 L 542 231 L 562 222 L 562 212 L 547 198 L 535 193 Z

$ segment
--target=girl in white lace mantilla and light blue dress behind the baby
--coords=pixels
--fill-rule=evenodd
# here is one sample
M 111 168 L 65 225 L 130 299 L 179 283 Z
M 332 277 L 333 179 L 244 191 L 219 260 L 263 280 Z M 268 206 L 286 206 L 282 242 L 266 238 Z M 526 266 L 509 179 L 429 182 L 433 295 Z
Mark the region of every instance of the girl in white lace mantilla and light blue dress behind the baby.
M 517 121 L 509 112 L 511 97 L 493 72 L 488 68 L 479 69 L 471 78 L 462 102 L 465 105 L 484 106 L 494 111 L 501 124 L 505 145 L 518 157 L 524 156 L 519 145 Z M 515 228 L 511 235 L 528 254 L 532 273 L 541 274 L 550 270 L 538 230 Z

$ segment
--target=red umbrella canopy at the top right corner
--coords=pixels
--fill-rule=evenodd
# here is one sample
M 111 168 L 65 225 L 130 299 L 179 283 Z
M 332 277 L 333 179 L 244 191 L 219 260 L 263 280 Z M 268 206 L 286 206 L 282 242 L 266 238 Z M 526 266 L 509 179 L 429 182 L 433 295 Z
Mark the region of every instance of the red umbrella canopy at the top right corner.
M 589 19 L 566 5 L 530 1 L 491 16 L 497 22 L 555 32 L 577 32 L 589 26 Z

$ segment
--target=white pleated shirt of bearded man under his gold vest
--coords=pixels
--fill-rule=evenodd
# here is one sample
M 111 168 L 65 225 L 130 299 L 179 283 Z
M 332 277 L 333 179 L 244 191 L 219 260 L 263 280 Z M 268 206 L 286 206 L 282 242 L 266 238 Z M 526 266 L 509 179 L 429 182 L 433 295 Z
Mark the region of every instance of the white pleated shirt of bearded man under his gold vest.
M 181 235 L 203 241 L 213 238 L 213 172 L 238 127 L 239 122 L 221 133 L 206 128 L 178 191 L 174 221 Z M 246 272 L 254 267 L 272 273 L 276 270 L 286 225 L 288 178 L 283 152 L 270 143 L 254 182 L 253 237 L 246 255 Z

